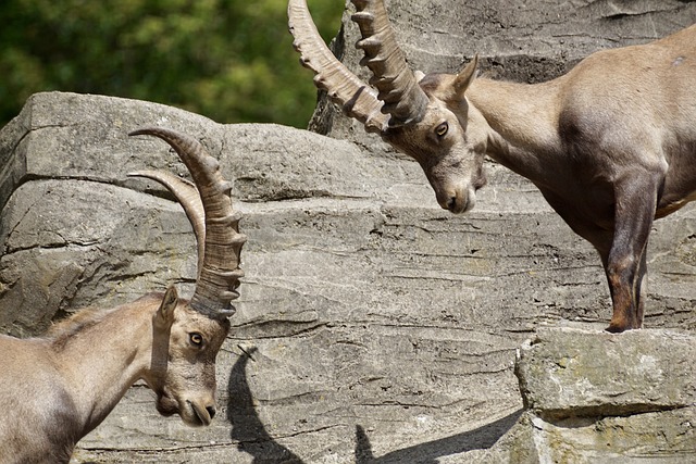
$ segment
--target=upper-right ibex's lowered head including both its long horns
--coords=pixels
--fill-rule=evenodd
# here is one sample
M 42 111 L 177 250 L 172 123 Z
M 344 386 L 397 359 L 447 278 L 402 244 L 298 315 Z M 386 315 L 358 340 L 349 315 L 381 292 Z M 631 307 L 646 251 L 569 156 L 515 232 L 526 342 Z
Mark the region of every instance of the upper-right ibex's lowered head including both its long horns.
M 314 84 L 346 114 L 420 163 L 444 209 L 470 210 L 476 190 L 485 184 L 486 136 L 469 129 L 472 121 L 483 116 L 469 112 L 464 98 L 476 60 L 456 76 L 413 73 L 396 42 L 383 0 L 351 1 L 357 8 L 352 21 L 362 34 L 356 46 L 365 54 L 360 64 L 373 74 L 370 86 L 328 50 L 306 0 L 289 0 L 289 27 L 300 62 L 316 74 Z

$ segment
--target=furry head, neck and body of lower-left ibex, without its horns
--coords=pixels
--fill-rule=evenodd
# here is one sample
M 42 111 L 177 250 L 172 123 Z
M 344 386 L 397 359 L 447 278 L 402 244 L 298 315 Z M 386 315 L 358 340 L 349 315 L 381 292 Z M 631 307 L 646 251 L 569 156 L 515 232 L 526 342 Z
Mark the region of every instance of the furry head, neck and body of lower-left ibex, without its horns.
M 229 322 L 191 310 L 172 291 L 167 302 L 152 293 L 112 310 L 80 311 L 45 338 L 0 336 L 0 462 L 69 462 L 77 441 L 138 379 L 156 392 L 162 414 L 208 425 L 215 355 Z M 202 335 L 201 347 L 191 344 L 192 333 Z

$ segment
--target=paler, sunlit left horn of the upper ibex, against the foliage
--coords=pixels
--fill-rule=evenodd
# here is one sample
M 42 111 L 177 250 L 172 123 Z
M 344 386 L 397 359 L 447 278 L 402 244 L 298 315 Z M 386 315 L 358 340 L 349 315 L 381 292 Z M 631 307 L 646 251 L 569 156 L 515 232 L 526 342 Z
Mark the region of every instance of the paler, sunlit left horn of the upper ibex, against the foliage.
M 288 26 L 295 41 L 293 47 L 300 53 L 302 66 L 315 74 L 314 85 L 328 92 L 333 102 L 344 113 L 364 124 L 370 133 L 387 129 L 388 116 L 382 110 L 382 101 L 369 85 L 360 80 L 328 50 L 319 35 L 307 8 L 306 0 L 289 0 Z

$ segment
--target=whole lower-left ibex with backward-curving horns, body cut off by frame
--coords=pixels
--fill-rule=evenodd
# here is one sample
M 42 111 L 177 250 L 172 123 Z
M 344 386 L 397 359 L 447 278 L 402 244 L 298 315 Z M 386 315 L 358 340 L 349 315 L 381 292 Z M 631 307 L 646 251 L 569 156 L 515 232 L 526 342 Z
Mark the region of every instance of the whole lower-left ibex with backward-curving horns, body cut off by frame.
M 178 414 L 191 426 L 209 425 L 215 415 L 215 356 L 243 276 L 240 215 L 232 209 L 231 184 L 217 161 L 198 141 L 163 128 L 130 135 L 141 134 L 172 146 L 195 181 L 133 174 L 164 184 L 184 206 L 198 241 L 194 296 L 179 300 L 170 287 L 111 310 L 77 312 L 42 338 L 0 336 L 3 464 L 67 463 L 77 441 L 138 379 L 154 391 L 163 415 Z

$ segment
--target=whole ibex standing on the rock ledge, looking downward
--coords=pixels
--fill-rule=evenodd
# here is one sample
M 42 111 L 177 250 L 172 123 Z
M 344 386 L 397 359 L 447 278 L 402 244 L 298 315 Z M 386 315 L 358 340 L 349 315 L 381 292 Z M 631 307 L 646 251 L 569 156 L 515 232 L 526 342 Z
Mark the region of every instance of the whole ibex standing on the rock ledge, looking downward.
M 422 166 L 442 208 L 474 206 L 484 155 L 526 177 L 599 253 L 613 303 L 607 330 L 643 324 L 646 243 L 655 218 L 696 198 L 696 26 L 596 52 L 529 85 L 412 72 L 383 0 L 351 0 L 370 85 L 324 45 L 304 0 L 290 32 L 314 84 L 349 116 Z

